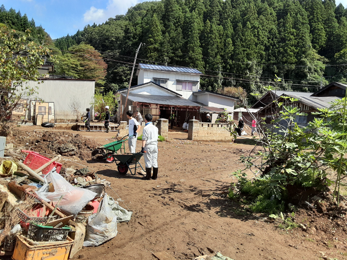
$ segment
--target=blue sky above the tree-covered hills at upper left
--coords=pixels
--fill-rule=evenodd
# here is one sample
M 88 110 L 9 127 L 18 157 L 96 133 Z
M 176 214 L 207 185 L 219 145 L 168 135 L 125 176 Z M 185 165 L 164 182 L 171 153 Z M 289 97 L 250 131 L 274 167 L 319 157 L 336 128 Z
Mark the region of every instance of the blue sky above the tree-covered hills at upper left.
M 2 4 L 34 18 L 36 25 L 42 25 L 52 39 L 74 34 L 86 24 L 99 24 L 108 18 L 125 14 L 129 7 L 145 0 L 3 0 Z M 336 0 L 347 6 L 347 0 Z

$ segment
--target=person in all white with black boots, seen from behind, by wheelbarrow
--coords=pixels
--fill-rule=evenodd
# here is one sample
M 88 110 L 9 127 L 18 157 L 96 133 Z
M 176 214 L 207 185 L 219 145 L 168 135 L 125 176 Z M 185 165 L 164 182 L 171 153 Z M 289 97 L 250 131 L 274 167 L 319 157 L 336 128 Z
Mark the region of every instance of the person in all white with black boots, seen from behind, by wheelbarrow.
M 142 149 L 146 163 L 146 177 L 143 180 L 156 180 L 158 178 L 158 128 L 152 123 L 153 116 L 145 115 L 145 127 L 142 133 Z M 146 151 L 146 152 L 145 152 Z M 153 176 L 152 175 L 153 167 Z

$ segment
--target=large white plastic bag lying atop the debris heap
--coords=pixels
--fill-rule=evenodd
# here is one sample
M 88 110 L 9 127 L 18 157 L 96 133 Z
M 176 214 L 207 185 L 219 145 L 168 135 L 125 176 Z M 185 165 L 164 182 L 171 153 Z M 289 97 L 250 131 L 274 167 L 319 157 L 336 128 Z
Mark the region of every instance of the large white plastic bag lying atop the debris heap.
M 61 195 L 64 195 L 59 203 L 59 208 L 71 215 L 77 215 L 97 195 L 91 190 L 73 187 L 56 172 L 47 174 L 45 180 L 52 182 L 54 192 L 48 192 L 48 184 L 46 183 L 36 192 L 37 195 L 47 201 L 58 201 Z

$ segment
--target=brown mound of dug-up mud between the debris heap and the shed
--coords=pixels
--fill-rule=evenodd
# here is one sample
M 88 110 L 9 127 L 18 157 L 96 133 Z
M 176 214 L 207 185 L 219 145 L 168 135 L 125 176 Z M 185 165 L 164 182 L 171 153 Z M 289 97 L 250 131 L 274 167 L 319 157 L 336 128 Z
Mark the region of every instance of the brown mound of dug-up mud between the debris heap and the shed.
M 76 156 L 81 160 L 91 158 L 91 151 L 98 147 L 95 141 L 80 134 L 54 131 L 13 131 L 15 148 L 34 149 L 41 153 Z

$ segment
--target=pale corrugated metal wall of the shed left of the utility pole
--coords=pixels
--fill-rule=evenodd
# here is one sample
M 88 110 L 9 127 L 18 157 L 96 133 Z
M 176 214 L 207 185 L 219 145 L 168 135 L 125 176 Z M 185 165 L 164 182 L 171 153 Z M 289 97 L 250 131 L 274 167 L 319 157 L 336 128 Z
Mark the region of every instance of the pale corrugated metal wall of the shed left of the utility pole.
M 94 109 L 91 103 L 94 98 L 95 81 L 87 80 L 44 80 L 38 84 L 36 81 L 26 83 L 29 87 L 36 89 L 38 93 L 28 97 L 30 99 L 43 99 L 45 102 L 54 102 L 56 121 L 74 120 L 75 116 L 70 109 L 73 98 L 80 101 L 80 112 L 84 113 L 86 108 L 90 108 L 91 116 Z

